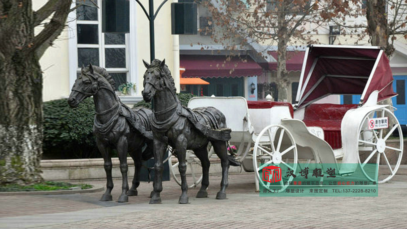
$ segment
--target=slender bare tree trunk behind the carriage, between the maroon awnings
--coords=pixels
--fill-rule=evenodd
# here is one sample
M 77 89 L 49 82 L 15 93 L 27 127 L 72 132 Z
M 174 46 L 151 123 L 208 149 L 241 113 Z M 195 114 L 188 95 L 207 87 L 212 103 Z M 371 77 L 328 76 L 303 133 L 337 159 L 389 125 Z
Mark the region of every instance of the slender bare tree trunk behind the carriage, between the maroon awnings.
M 278 101 L 288 101 L 288 88 L 290 79 L 288 78 L 287 63 L 287 42 L 289 40 L 287 25 L 285 24 L 284 2 L 278 5 L 278 51 L 277 51 L 277 79 Z

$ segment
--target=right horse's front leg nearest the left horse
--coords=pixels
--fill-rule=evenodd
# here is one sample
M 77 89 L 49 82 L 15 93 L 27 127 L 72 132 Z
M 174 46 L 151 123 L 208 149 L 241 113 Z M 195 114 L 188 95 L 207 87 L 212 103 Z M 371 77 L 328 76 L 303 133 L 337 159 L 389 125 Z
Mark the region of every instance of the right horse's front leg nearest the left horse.
M 164 156 L 167 145 L 158 139 L 153 140 L 153 151 L 154 151 L 154 181 L 153 181 L 153 193 L 151 195 L 150 204 L 161 203 L 160 192 L 162 191 L 162 170 L 164 165 L 162 165 L 162 157 Z

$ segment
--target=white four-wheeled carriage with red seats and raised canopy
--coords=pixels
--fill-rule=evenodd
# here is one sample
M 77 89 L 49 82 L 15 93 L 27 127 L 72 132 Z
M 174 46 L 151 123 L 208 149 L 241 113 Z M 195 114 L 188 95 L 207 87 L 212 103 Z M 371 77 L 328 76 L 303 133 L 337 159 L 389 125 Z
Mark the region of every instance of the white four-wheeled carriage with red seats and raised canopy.
M 381 183 L 396 174 L 403 155 L 400 123 L 391 106 L 378 104 L 396 96 L 392 81 L 389 60 L 379 47 L 310 45 L 295 105 L 243 97 L 195 97 L 188 107 L 213 106 L 225 114 L 232 129 L 230 143 L 238 146 L 245 170 L 255 171 L 257 190 L 258 182 L 266 185 L 259 177 L 262 166 L 284 164 L 295 172 L 297 167 L 290 163 L 303 162 L 359 164 L 362 172 L 366 163 L 382 164 L 376 174 Z M 361 95 L 359 104 L 315 103 L 328 95 L 354 94 Z M 369 126 L 372 119 L 387 120 L 387 126 Z M 190 158 L 197 161 L 193 154 Z M 356 169 L 338 168 L 341 175 Z M 199 183 L 194 177 L 197 185 L 195 181 Z M 280 185 L 287 187 L 283 181 Z

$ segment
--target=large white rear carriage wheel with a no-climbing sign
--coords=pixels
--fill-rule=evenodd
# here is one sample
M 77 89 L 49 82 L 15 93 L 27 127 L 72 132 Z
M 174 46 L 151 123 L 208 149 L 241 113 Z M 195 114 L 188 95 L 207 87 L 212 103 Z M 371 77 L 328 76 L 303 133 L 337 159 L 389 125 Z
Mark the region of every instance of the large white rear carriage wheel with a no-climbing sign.
M 388 128 L 369 130 L 369 119 L 372 117 L 388 117 Z M 393 126 L 391 126 L 393 125 Z M 394 139 L 392 134 L 398 132 L 398 137 Z M 374 110 L 367 114 L 359 126 L 359 164 L 362 172 L 370 181 L 374 178 L 367 174 L 364 166 L 366 163 L 377 163 L 380 161 L 385 165 L 379 167 L 375 176 L 378 177 L 378 183 L 389 181 L 397 172 L 403 156 L 403 132 L 400 123 L 394 114 L 387 108 Z

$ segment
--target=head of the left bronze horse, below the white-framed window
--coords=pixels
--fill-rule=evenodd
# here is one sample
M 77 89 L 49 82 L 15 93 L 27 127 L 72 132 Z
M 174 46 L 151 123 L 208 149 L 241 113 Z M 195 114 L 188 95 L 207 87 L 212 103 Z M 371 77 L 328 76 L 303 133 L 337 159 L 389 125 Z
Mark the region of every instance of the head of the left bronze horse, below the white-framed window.
M 105 77 L 99 74 L 98 69 L 92 64 L 89 64 L 88 68 L 82 66 L 81 74 L 75 80 L 69 95 L 68 104 L 70 107 L 77 107 L 83 99 L 95 95 L 101 87 L 113 91 L 112 86 L 105 80 Z

